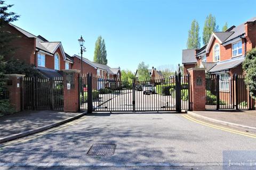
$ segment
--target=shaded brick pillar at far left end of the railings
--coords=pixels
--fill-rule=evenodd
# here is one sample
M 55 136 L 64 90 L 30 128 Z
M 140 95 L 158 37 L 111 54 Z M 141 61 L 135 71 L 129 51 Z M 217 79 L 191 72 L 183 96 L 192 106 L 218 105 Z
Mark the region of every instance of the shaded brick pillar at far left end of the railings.
M 7 77 L 6 87 L 9 91 L 10 104 L 14 106 L 15 112 L 21 111 L 21 81 L 23 74 L 5 74 Z

